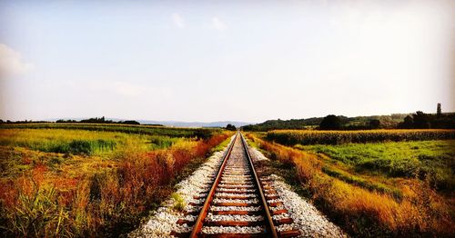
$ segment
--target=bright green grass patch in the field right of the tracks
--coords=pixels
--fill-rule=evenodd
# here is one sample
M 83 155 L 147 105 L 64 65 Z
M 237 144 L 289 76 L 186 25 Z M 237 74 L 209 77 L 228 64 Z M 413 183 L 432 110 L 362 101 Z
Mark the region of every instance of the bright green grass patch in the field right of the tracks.
M 375 144 L 296 145 L 329 158 L 325 173 L 367 188 L 358 175 L 387 178 L 430 178 L 439 190 L 455 187 L 455 141 L 389 142 Z M 351 175 L 356 174 L 356 175 Z M 373 186 L 374 187 L 374 186 Z M 380 190 L 380 189 L 379 189 Z

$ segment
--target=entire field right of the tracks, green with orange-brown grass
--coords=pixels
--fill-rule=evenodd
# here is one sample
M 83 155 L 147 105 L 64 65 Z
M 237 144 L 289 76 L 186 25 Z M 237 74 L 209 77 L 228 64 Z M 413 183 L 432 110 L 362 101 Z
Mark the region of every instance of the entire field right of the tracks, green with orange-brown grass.
M 248 138 L 272 159 L 276 173 L 351 234 L 450 236 L 453 134 L 291 130 Z

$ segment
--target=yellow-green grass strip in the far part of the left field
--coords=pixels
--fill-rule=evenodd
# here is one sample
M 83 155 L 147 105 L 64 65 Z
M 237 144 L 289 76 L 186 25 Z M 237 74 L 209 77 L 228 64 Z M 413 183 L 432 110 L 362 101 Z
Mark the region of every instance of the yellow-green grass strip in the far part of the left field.
M 102 155 L 136 146 L 141 151 L 165 149 L 186 140 L 168 135 L 125 134 L 73 129 L 7 129 L 0 131 L 0 145 L 25 147 L 35 151 Z

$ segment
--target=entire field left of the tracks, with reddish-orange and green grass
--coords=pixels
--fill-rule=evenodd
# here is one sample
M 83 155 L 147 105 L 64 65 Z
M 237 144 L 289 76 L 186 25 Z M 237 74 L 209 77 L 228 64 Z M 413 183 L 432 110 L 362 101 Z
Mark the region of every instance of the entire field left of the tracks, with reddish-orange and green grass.
M 0 129 L 0 233 L 116 236 L 232 133 L 126 125 L 20 124 Z

